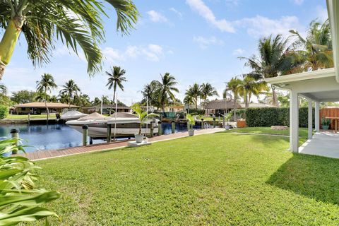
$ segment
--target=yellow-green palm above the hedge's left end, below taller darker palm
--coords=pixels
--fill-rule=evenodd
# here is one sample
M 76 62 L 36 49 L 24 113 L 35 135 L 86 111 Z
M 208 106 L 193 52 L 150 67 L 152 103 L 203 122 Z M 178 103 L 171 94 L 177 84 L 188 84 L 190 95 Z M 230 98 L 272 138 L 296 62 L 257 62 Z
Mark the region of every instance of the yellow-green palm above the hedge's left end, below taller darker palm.
M 264 91 L 268 90 L 268 86 L 264 81 L 256 81 L 251 74 L 245 74 L 243 80 L 239 80 L 239 95 L 244 98 L 245 109 L 249 107 L 251 102 L 251 96 L 255 95 L 258 97 L 263 94 Z

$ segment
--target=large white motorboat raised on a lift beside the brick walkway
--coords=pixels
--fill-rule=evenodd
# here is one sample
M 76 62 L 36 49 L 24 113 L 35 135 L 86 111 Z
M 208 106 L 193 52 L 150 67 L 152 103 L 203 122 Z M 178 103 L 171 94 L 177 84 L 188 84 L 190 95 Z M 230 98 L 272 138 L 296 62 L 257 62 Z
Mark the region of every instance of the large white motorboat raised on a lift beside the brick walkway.
M 147 125 L 143 124 L 141 133 L 150 133 L 150 124 L 153 124 L 153 133 L 157 133 L 157 119 L 148 119 Z M 79 132 L 83 132 L 83 125 L 88 126 L 88 136 L 91 138 L 107 138 L 107 124 L 111 125 L 112 137 L 123 138 L 133 137 L 139 131 L 140 122 L 136 115 L 131 113 L 117 113 L 112 114 L 110 117 L 105 117 L 99 113 L 92 113 L 88 116 L 82 117 L 77 120 L 71 120 L 66 122 L 71 128 L 76 129 Z M 115 128 L 114 128 L 115 126 Z M 147 129 L 146 129 L 147 127 Z

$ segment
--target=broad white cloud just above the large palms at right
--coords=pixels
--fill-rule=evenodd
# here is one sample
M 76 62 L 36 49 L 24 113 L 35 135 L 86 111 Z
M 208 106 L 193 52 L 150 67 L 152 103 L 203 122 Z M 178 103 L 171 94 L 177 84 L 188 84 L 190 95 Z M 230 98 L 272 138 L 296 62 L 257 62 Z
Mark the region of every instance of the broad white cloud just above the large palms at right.
M 234 21 L 234 24 L 247 29 L 247 33 L 252 37 L 263 37 L 268 35 L 290 35 L 289 30 L 294 29 L 299 32 L 304 32 L 304 27 L 300 25 L 299 19 L 296 16 L 283 16 L 279 19 L 270 19 L 263 16 L 254 18 L 243 18 L 242 20 Z

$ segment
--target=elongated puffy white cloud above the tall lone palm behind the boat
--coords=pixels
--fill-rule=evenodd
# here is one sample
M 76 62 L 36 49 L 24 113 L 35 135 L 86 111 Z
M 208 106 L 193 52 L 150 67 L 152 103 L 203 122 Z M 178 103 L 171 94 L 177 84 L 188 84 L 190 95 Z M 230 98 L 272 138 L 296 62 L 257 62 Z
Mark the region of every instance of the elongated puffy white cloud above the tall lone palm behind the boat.
M 148 46 L 128 46 L 124 51 L 106 47 L 102 50 L 102 54 L 110 63 L 117 61 L 126 61 L 127 59 L 137 59 L 141 57 L 148 61 L 160 61 L 161 57 L 164 56 L 163 48 L 157 44 L 148 44 Z

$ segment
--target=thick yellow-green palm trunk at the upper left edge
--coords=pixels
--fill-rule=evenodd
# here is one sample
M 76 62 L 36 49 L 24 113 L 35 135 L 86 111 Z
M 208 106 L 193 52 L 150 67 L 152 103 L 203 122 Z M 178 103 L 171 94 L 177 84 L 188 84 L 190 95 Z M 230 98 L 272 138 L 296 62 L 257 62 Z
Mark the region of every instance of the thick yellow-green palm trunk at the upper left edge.
M 6 65 L 13 55 L 16 42 L 23 26 L 24 18 L 17 17 L 9 21 L 4 36 L 0 42 L 0 80 L 4 76 Z

